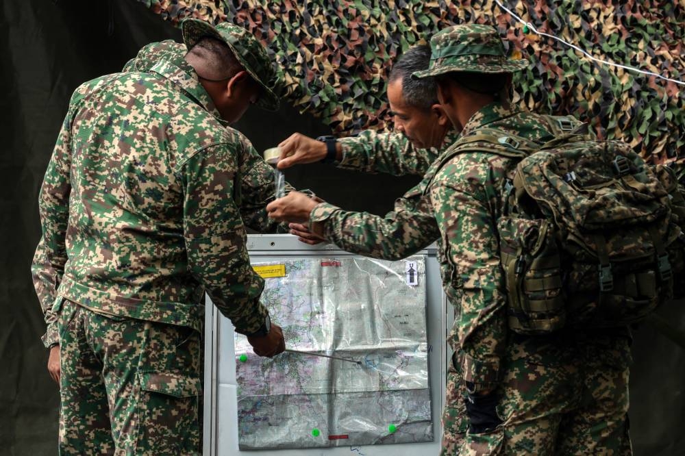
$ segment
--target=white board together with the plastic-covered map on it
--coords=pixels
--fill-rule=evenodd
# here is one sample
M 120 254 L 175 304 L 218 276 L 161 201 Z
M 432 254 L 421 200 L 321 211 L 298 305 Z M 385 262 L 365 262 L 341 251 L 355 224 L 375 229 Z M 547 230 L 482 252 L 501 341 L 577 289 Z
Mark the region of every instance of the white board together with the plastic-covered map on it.
M 253 265 L 285 266 L 263 296 L 282 303 L 288 348 L 360 364 L 256 357 L 208 303 L 204 454 L 438 454 L 451 322 L 434 250 L 382 262 L 288 235 L 249 242 Z

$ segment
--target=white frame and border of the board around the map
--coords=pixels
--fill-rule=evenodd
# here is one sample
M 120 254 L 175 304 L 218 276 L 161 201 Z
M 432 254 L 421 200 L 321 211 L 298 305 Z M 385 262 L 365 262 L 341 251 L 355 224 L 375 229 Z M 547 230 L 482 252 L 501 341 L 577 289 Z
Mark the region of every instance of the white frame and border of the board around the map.
M 247 248 L 253 262 L 267 262 L 283 257 L 360 256 L 340 250 L 334 244 L 310 246 L 299 242 L 295 236 L 289 234 L 251 234 L 248 236 Z M 453 320 L 453 312 L 451 312 L 451 306 L 448 308 L 447 299 L 442 290 L 440 266 L 435 247 L 429 246 L 416 254 L 425 255 L 426 322 L 427 342 L 429 344 L 429 385 L 432 395 L 434 429 L 433 442 L 241 451 L 238 448 L 235 333 L 230 321 L 223 317 L 207 298 L 203 455 L 336 456 L 356 454 L 365 456 L 414 456 L 417 454 L 438 454 L 442 438 L 440 414 L 445 405 L 446 368 L 451 357 L 451 350 L 445 341 Z

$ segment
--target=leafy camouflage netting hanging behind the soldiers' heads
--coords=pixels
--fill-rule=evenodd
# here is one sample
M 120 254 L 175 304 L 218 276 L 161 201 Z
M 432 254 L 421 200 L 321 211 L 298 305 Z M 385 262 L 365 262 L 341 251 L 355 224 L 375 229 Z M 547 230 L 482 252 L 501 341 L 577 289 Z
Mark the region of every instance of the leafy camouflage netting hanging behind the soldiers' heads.
M 283 96 L 338 134 L 391 126 L 385 77 L 397 55 L 441 27 L 496 25 L 512 55 L 531 60 L 514 79 L 528 110 L 573 114 L 602 138 L 621 138 L 655 162 L 685 144 L 685 88 L 589 60 L 556 40 L 524 33 L 495 1 L 138 0 L 177 24 L 186 16 L 249 29 L 284 69 Z M 595 58 L 683 79 L 685 3 L 656 0 L 503 1 L 540 31 Z

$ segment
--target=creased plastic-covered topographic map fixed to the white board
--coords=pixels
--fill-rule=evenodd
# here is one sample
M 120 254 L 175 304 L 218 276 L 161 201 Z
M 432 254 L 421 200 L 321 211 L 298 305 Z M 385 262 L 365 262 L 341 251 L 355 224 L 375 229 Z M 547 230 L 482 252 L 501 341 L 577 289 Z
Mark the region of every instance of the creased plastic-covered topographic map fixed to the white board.
M 255 264 L 286 352 L 253 354 L 236 334 L 241 449 L 433 440 L 425 259 L 303 257 Z M 283 267 L 284 266 L 284 267 Z

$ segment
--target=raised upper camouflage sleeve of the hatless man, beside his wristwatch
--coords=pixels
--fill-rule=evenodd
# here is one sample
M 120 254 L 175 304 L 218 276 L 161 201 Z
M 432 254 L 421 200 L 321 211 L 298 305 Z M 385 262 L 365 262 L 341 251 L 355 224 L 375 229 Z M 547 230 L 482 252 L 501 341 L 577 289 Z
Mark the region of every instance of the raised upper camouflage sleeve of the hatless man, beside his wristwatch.
M 343 158 L 338 167 L 394 176 L 424 175 L 440 153 L 456 138 L 458 133 L 451 130 L 445 135 L 440 149 L 416 149 L 401 133 L 365 130 L 357 136 L 338 140 L 343 149 Z

